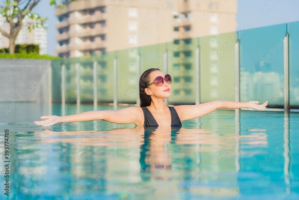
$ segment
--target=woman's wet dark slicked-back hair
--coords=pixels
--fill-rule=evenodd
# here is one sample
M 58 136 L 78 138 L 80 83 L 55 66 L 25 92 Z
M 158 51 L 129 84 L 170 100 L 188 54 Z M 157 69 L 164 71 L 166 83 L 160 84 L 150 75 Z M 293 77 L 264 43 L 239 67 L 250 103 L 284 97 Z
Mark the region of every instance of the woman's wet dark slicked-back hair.
M 145 93 L 144 89 L 145 87 L 149 84 L 149 74 L 152 73 L 153 71 L 156 71 L 160 69 L 158 68 L 151 68 L 146 70 L 141 76 L 140 76 L 140 80 L 139 80 L 139 97 L 140 97 L 140 107 L 145 107 L 145 106 L 149 106 L 152 99 L 150 98 L 149 95 L 147 95 L 147 93 Z

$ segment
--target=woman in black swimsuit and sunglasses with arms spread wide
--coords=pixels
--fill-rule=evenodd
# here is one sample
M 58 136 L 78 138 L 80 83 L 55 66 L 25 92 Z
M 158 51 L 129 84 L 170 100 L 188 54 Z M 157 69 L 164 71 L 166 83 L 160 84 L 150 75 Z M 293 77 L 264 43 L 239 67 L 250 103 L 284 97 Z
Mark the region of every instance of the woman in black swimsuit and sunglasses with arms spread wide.
M 159 69 L 146 70 L 140 77 L 139 96 L 141 107 L 127 107 L 120 110 L 88 111 L 68 116 L 42 116 L 45 121 L 34 121 L 41 126 L 73 121 L 104 120 L 116 124 L 135 124 L 136 126 L 180 127 L 181 121 L 194 119 L 213 112 L 219 108 L 252 108 L 266 109 L 268 101 L 259 105 L 258 101 L 246 103 L 216 100 L 199 105 L 165 106 L 164 99 L 170 97 L 171 76 L 164 75 Z

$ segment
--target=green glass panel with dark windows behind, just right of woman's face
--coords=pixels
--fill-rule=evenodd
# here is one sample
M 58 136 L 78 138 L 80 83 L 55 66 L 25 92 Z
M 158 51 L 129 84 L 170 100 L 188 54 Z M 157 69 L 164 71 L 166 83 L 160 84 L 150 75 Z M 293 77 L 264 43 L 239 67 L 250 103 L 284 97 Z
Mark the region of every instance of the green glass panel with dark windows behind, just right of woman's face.
M 198 38 L 180 38 L 167 43 L 168 73 L 172 77 L 171 105 L 195 104 L 195 51 Z

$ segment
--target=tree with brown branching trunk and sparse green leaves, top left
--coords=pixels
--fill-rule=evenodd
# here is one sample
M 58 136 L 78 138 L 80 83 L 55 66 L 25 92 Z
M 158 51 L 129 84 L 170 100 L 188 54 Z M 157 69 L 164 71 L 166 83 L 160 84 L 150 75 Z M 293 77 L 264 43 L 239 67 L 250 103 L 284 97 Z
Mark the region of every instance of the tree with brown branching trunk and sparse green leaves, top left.
M 7 22 L 10 24 L 10 32 L 4 31 L 0 27 L 0 32 L 4 37 L 9 39 L 9 53 L 13 54 L 15 52 L 15 41 L 22 28 L 22 20 L 25 16 L 32 19 L 32 23 L 28 26 L 29 31 L 40 25 L 45 28 L 46 17 L 41 18 L 38 14 L 31 12 L 31 10 L 39 3 L 41 0 L 4 0 L 4 6 L 0 6 L 0 14 L 6 17 Z M 59 5 L 63 7 L 63 4 L 70 3 L 75 0 L 61 0 Z M 55 0 L 50 0 L 50 5 L 57 5 Z

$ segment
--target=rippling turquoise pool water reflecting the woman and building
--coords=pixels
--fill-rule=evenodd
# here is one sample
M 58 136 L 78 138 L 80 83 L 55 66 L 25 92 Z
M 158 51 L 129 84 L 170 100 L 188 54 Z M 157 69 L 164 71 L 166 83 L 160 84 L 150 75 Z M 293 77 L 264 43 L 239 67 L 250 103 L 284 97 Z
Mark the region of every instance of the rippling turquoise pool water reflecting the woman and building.
M 41 127 L 33 121 L 61 115 L 60 104 L 9 107 L 0 104 L 0 199 L 299 199 L 298 113 L 216 110 L 180 129 L 144 130 L 105 121 Z M 65 115 L 76 111 L 66 105 Z

